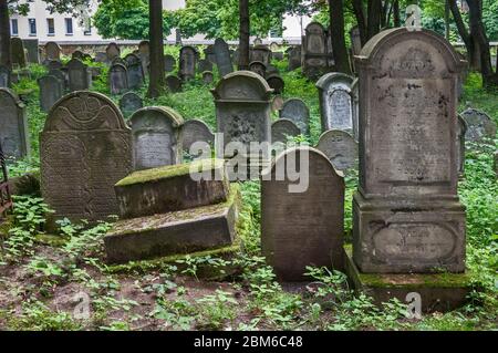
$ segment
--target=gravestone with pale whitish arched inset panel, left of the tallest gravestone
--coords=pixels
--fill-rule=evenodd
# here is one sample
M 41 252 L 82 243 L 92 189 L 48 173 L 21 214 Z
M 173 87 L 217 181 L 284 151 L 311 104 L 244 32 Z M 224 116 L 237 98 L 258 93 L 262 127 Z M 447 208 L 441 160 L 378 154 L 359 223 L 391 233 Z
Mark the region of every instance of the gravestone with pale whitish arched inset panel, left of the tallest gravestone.
M 318 82 L 322 131 L 342 129 L 353 134 L 353 108 L 351 84 L 353 77 L 332 72 L 323 75 Z

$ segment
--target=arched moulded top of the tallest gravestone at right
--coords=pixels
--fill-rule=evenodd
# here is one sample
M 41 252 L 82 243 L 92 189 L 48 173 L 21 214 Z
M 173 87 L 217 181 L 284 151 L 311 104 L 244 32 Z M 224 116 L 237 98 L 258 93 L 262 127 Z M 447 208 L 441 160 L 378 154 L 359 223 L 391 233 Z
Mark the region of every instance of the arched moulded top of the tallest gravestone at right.
M 446 39 L 425 29 L 383 31 L 363 46 L 355 60 L 359 65 L 387 70 L 392 76 L 409 77 L 416 77 L 417 73 L 421 77 L 444 75 L 445 72 L 459 73 L 465 66 Z

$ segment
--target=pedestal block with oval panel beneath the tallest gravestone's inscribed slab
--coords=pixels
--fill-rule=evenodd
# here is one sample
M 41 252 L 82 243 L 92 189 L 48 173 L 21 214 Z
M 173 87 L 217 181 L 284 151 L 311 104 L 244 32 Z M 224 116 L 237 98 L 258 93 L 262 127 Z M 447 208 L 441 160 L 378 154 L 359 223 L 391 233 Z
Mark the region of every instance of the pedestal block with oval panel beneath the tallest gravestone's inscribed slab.
M 353 258 L 365 273 L 465 271 L 458 197 L 353 199 Z

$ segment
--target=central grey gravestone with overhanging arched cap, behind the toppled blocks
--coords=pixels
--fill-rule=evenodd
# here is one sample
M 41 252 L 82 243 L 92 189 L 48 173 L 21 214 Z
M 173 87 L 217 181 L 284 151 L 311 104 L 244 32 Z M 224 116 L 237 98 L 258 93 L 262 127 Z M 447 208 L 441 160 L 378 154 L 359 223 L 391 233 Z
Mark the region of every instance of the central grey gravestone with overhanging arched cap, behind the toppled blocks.
M 211 93 L 215 97 L 217 132 L 222 134 L 222 144 L 217 146 L 217 154 L 220 158 L 232 159 L 229 163 L 235 164 L 242 163 L 241 159 L 247 157 L 247 165 L 237 165 L 240 174 L 236 176 L 228 173 L 230 180 L 247 178 L 248 168 L 256 170 L 269 158 L 268 155 L 261 157 L 259 148 L 252 150 L 255 145 L 251 146 L 251 142 L 267 143 L 269 147 L 272 90 L 260 75 L 251 71 L 236 71 L 224 76 Z M 231 142 L 239 143 L 240 148 L 226 148 Z M 230 165 L 230 169 L 235 170 L 235 167 Z

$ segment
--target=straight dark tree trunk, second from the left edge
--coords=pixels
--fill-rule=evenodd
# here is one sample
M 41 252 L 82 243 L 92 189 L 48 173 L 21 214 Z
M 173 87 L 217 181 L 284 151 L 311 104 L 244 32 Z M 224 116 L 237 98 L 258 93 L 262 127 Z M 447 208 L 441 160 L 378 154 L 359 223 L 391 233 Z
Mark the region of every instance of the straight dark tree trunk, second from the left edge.
M 164 91 L 163 1 L 148 0 L 151 74 L 147 96 L 157 98 Z

